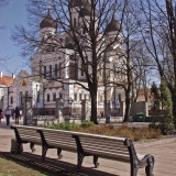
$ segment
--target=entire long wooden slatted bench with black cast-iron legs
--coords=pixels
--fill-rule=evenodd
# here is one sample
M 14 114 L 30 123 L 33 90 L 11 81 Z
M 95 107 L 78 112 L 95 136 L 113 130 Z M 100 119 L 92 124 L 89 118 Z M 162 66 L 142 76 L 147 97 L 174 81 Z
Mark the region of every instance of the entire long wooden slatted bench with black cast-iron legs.
M 77 168 L 80 172 L 85 156 L 94 156 L 94 164 L 99 166 L 98 158 L 116 160 L 130 163 L 131 176 L 136 176 L 138 169 L 145 167 L 147 176 L 153 176 L 154 157 L 150 154 L 139 155 L 131 140 L 123 138 L 70 132 L 63 130 L 45 129 L 13 124 L 18 150 L 22 143 L 30 142 L 31 150 L 34 144 L 42 145 L 42 161 L 48 148 L 57 148 L 61 158 L 62 150 L 77 153 Z

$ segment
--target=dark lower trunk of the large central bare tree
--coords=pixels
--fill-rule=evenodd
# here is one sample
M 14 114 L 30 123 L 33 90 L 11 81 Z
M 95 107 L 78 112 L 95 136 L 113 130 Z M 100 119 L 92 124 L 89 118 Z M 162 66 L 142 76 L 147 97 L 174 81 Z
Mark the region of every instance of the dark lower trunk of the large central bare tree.
M 91 118 L 90 121 L 92 121 L 95 124 L 98 124 L 97 122 L 97 86 L 94 84 L 90 88 L 90 96 L 91 96 Z

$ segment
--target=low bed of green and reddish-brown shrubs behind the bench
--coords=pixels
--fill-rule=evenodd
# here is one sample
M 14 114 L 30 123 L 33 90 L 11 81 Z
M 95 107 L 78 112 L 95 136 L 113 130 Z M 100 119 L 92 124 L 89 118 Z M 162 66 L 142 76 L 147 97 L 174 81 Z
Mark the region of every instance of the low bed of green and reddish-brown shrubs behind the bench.
M 128 138 L 133 141 L 161 138 L 161 131 L 157 129 L 151 129 L 151 128 L 130 129 L 128 125 L 121 125 L 118 128 L 106 124 L 95 125 L 95 123 L 90 121 L 86 121 L 81 124 L 65 122 L 59 124 L 46 125 L 46 128 Z

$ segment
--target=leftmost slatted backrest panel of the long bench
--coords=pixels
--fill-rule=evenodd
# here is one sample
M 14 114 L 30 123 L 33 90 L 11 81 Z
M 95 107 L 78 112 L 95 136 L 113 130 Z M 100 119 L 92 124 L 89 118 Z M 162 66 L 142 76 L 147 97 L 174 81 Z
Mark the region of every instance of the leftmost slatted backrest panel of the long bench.
M 33 142 L 35 144 L 42 144 L 41 136 L 36 132 L 36 130 L 43 128 L 12 124 L 11 129 L 15 129 L 18 131 L 18 134 L 22 141 Z

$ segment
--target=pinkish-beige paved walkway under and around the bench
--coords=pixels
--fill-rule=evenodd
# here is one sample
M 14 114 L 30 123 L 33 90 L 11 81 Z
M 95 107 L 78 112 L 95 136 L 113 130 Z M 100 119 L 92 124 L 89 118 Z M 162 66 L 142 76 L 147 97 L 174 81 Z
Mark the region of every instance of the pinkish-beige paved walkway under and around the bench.
M 11 124 L 14 120 L 11 120 Z M 20 120 L 22 124 L 22 120 Z M 11 138 L 14 136 L 13 130 L 6 125 L 4 120 L 0 124 L 0 152 L 9 152 L 11 148 Z M 32 154 L 29 144 L 24 144 L 22 156 L 41 161 L 41 146 L 36 146 L 36 152 Z M 136 152 L 140 154 L 152 154 L 155 157 L 155 176 L 176 176 L 176 138 L 163 141 L 135 144 Z M 63 158 L 57 160 L 56 150 L 48 150 L 46 164 L 53 164 L 57 168 L 69 170 L 72 175 L 76 173 L 77 155 L 69 152 L 63 152 Z M 30 162 L 30 161 L 29 161 Z M 81 174 L 84 176 L 130 176 L 130 165 L 110 160 L 99 160 L 99 168 L 94 168 L 92 157 L 85 157 Z M 139 176 L 144 176 L 144 169 L 139 169 Z

